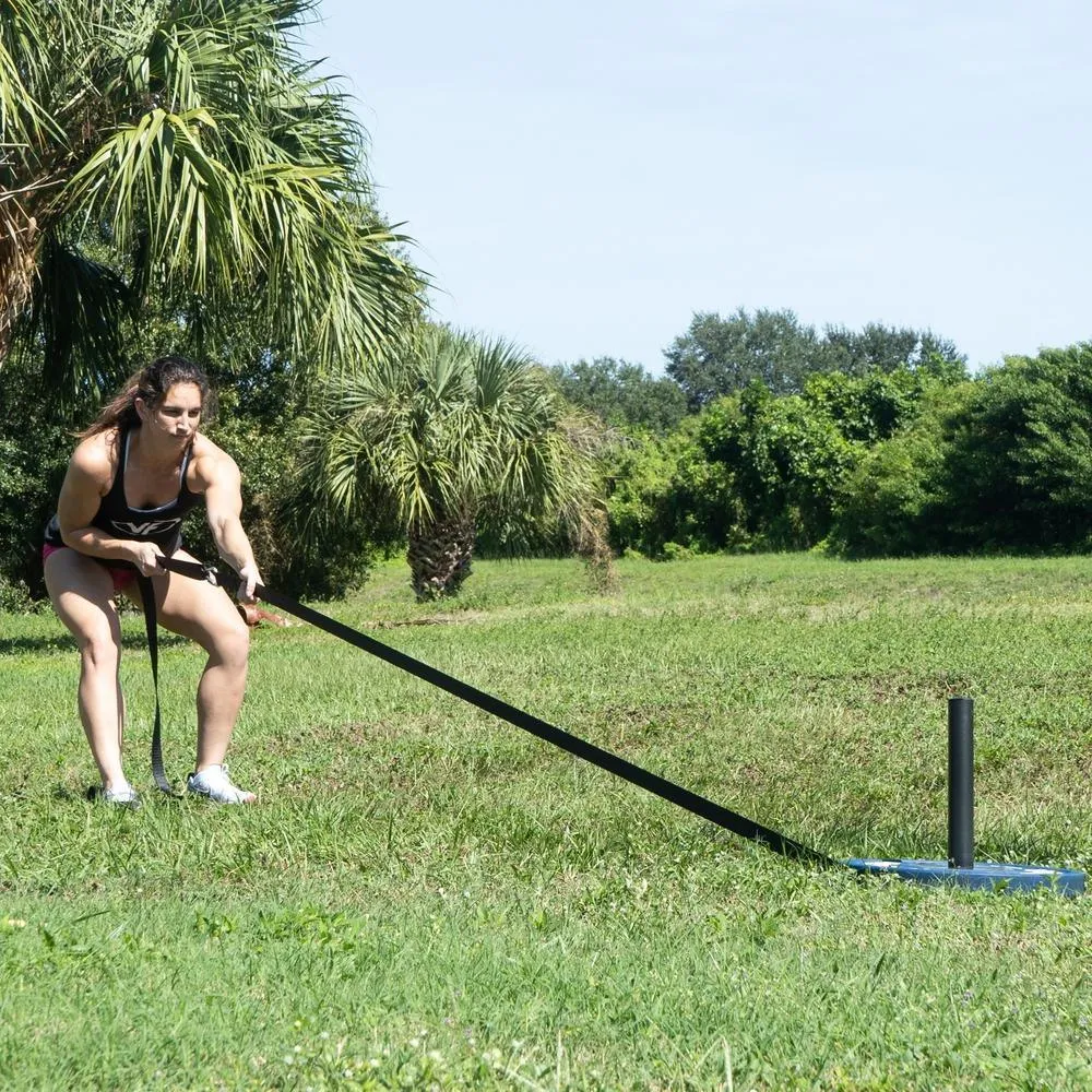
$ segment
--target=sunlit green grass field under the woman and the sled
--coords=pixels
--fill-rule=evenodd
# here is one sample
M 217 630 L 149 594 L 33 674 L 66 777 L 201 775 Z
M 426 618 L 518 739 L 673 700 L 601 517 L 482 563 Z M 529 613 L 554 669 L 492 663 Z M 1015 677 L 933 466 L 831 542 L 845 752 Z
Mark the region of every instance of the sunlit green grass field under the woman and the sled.
M 330 613 L 834 857 L 1092 866 L 1092 559 L 381 568 Z M 0 1088 L 1092 1088 L 1092 899 L 781 859 L 300 626 L 256 633 L 249 809 L 86 803 L 74 646 L 0 616 Z M 202 657 L 161 646 L 192 762 Z

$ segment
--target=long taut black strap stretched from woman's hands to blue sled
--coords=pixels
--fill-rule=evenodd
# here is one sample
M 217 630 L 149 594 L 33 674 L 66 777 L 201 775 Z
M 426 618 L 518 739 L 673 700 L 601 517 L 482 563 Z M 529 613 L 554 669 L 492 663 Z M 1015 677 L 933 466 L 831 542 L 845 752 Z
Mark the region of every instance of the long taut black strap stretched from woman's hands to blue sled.
M 221 573 L 219 570 L 212 566 L 198 565 L 173 557 L 161 558 L 159 563 L 171 572 L 191 577 L 194 580 L 211 580 L 213 583 L 221 584 L 222 586 L 230 583 L 232 587 L 228 590 L 232 590 L 238 583 L 238 577 L 234 572 Z M 517 709 L 514 705 L 510 705 L 507 701 L 502 701 L 491 693 L 486 693 L 484 690 L 478 690 L 467 682 L 463 682 L 451 675 L 430 667 L 419 660 L 414 660 L 413 656 L 407 656 L 404 652 L 399 652 L 396 649 L 392 649 L 334 618 L 328 618 L 318 610 L 304 606 L 304 604 L 297 603 L 295 600 L 290 600 L 280 592 L 271 591 L 259 584 L 254 589 L 254 595 L 257 598 L 264 600 L 266 603 L 280 607 L 282 610 L 287 610 L 297 618 L 302 618 L 312 626 L 317 626 L 319 629 L 340 638 L 364 652 L 378 656 L 394 667 L 408 672 L 411 675 L 430 682 L 441 690 L 447 690 L 448 693 L 454 695 L 456 698 L 461 698 L 472 705 L 476 705 L 484 712 L 499 716 L 502 721 L 508 721 L 509 724 L 514 724 L 517 727 L 530 732 L 539 739 L 545 739 L 547 743 L 560 747 L 570 755 L 575 755 L 577 758 L 582 758 L 593 765 L 597 765 L 601 770 L 606 770 L 608 773 L 622 778 L 625 781 L 638 785 L 650 793 L 655 793 L 656 796 L 661 796 L 665 800 L 669 800 L 672 804 L 676 804 L 678 807 L 685 808 L 696 816 L 700 816 L 702 819 L 708 819 L 710 822 L 715 823 L 717 827 L 723 827 L 734 834 L 750 839 L 772 850 L 774 853 L 780 853 L 782 856 L 796 860 L 807 860 L 818 865 L 836 864 L 836 862 L 819 853 L 817 850 L 795 842 L 780 831 L 763 827 L 761 823 L 757 823 L 746 816 L 722 807 L 720 804 L 715 804 L 704 796 L 691 793 L 681 785 L 676 785 L 657 774 L 650 773 L 648 770 L 620 758 L 618 755 L 614 755 L 602 747 L 596 747 L 594 744 L 590 744 L 578 736 L 555 727 L 553 724 L 548 724 L 546 721 L 526 713 L 522 709 Z

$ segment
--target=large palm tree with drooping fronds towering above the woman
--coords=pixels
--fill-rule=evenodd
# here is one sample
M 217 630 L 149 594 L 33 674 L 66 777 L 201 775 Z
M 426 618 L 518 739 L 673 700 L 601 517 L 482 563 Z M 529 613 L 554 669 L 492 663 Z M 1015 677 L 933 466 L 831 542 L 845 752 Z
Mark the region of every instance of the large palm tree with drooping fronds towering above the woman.
M 416 314 L 364 134 L 297 51 L 316 3 L 0 0 L 0 367 L 29 330 L 56 366 L 118 360 L 149 290 L 327 365 Z

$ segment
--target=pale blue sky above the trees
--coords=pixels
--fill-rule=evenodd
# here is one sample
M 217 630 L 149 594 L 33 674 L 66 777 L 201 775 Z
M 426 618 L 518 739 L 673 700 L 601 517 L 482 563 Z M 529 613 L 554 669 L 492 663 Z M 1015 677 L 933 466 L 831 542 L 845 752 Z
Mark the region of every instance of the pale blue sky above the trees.
M 1092 337 L 1092 4 L 320 0 L 438 318 L 663 368 L 695 311 Z

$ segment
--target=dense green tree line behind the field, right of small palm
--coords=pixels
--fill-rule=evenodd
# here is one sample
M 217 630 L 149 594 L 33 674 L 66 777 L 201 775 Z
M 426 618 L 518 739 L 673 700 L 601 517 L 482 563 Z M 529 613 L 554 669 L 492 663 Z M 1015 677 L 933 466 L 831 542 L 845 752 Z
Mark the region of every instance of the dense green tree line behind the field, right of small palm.
M 610 423 L 610 541 L 650 557 L 1092 548 L 1092 345 L 971 375 L 929 331 L 817 336 L 791 311 L 696 314 L 665 378 L 555 369 Z

